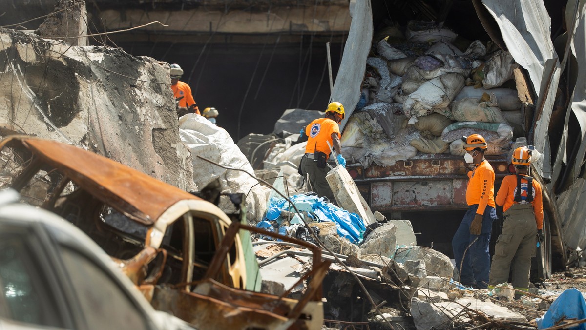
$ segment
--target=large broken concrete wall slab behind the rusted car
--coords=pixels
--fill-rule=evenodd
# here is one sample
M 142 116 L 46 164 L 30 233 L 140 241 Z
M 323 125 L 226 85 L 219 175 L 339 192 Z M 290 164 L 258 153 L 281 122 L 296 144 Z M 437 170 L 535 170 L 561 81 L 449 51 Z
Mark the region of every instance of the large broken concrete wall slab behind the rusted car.
M 0 135 L 77 145 L 195 189 L 163 64 L 0 29 Z

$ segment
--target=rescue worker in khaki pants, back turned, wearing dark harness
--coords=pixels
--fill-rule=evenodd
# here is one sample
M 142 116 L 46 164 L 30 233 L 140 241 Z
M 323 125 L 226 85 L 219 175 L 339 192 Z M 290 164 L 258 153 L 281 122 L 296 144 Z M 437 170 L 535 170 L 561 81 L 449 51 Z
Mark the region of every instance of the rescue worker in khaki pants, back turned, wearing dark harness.
M 505 176 L 496 194 L 496 204 L 503 206 L 503 230 L 496 240 L 489 289 L 507 283 L 512 268 L 513 287 L 529 292 L 529 271 L 536 240 L 543 243 L 544 239 L 541 185 L 529 176 L 534 149 L 532 145 L 515 149 L 512 163 L 516 173 Z M 521 295 L 515 291 L 517 298 Z

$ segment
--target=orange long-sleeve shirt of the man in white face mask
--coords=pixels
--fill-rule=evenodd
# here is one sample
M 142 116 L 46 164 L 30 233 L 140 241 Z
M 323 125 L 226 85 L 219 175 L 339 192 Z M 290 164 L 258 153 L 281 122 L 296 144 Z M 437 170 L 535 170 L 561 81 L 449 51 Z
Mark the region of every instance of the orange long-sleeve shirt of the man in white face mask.
M 495 170 L 489 162 L 484 161 L 472 172 L 468 172 L 466 203 L 478 204 L 476 214 L 483 215 L 486 205 L 495 207 Z

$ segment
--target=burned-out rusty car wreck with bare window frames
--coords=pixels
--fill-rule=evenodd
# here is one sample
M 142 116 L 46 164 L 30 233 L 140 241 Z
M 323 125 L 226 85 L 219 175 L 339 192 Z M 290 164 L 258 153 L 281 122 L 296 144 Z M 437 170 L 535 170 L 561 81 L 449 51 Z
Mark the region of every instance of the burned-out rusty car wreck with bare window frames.
M 281 237 L 314 251 L 302 298 L 261 294 L 254 292 L 260 273 L 249 235 L 262 230 L 216 205 L 61 142 L 6 137 L 0 157 L 4 188 L 79 227 L 155 309 L 197 328 L 321 328 L 329 261 L 312 244 Z

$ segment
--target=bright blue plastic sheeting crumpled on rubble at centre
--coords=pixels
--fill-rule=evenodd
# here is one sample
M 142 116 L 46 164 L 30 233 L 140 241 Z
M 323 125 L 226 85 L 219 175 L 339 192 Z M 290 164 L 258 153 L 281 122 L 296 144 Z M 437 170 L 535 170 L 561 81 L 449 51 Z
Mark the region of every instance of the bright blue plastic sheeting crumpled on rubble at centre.
M 323 201 L 323 198 L 318 196 L 295 195 L 290 199 L 295 205 L 297 203 L 304 203 L 304 205 L 308 203 L 311 205 L 312 210 L 308 212 L 308 215 L 316 220 L 316 222 L 335 222 L 338 234 L 341 237 L 356 244 L 362 241 L 366 224 L 356 213 L 350 213 L 332 203 L 326 203 Z M 267 224 L 271 224 L 272 227 L 278 227 L 281 224 L 281 212 L 283 210 L 295 212 L 295 209 L 284 198 L 279 200 L 271 199 L 269 201 L 267 215 L 265 215 L 263 221 L 259 222 L 257 226 L 268 229 Z M 273 229 L 273 231 L 276 230 Z

